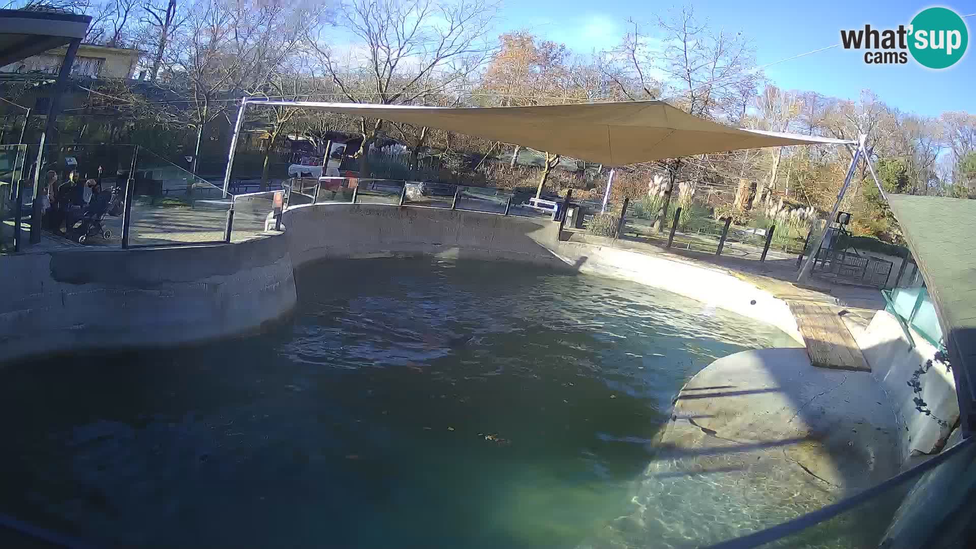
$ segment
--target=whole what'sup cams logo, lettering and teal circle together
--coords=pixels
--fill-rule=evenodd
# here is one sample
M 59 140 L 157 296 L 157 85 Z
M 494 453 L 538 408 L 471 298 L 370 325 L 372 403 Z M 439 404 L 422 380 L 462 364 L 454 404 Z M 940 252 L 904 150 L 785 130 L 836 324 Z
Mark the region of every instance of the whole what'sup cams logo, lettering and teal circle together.
M 841 30 L 840 43 L 845 50 L 868 50 L 864 62 L 869 64 L 904 64 L 912 54 L 922 66 L 949 68 L 965 54 L 969 30 L 953 10 L 927 8 L 898 28 L 878 30 L 866 24 Z

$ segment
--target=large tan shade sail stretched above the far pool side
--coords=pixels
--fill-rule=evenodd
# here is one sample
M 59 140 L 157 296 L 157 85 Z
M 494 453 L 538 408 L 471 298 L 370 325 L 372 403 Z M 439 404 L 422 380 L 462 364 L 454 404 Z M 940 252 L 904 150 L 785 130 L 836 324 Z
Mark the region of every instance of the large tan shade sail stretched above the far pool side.
M 856 144 L 733 128 L 662 101 L 453 108 L 249 100 L 428 126 L 572 156 L 608 166 L 709 152 L 785 145 Z

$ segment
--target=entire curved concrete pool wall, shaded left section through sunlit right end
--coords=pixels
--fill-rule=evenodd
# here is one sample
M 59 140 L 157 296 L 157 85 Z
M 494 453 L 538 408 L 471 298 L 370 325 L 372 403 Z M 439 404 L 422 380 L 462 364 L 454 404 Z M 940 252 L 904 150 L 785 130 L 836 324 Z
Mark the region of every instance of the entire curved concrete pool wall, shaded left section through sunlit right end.
M 560 241 L 548 219 L 386 204 L 288 209 L 285 232 L 213 246 L 65 249 L 5 257 L 0 361 L 173 346 L 260 329 L 296 304 L 294 270 L 328 258 L 436 255 L 626 278 L 771 324 L 802 342 L 789 308 L 719 270 Z

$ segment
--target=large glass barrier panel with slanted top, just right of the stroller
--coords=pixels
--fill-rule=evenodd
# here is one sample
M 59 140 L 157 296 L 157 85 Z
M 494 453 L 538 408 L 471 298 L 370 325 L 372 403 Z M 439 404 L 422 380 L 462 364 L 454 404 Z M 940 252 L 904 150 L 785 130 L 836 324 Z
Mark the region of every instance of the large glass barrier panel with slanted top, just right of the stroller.
M 231 196 L 162 156 L 139 149 L 129 245 L 224 241 Z

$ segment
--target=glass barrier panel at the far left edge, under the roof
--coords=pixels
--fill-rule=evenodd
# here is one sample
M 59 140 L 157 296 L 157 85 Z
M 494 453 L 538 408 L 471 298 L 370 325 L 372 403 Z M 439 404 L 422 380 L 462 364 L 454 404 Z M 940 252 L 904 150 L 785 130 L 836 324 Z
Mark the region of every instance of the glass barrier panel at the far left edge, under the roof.
M 33 207 L 32 182 L 23 181 L 26 146 L 0 147 L 0 253 L 14 251 L 14 233 L 20 220 L 20 237 L 30 231 Z M 26 221 L 26 225 L 23 222 Z

